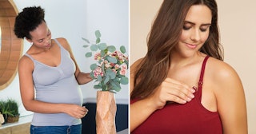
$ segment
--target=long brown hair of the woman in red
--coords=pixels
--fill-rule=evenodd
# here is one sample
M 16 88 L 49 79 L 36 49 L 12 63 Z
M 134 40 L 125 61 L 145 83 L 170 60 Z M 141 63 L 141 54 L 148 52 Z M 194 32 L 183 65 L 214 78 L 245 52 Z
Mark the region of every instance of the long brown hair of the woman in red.
M 134 75 L 131 99 L 150 96 L 167 77 L 170 52 L 178 44 L 186 14 L 193 5 L 206 5 L 212 13 L 209 37 L 200 52 L 223 60 L 218 36 L 218 8 L 214 0 L 164 0 L 147 38 L 148 50 Z

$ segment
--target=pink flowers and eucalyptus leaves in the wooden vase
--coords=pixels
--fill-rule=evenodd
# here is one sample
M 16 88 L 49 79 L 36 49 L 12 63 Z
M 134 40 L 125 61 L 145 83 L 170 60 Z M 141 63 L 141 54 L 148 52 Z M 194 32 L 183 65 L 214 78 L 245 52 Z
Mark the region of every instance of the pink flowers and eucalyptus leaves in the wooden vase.
M 114 45 L 106 45 L 102 43 L 100 37 L 102 36 L 99 30 L 95 31 L 96 42 L 90 43 L 86 38 L 82 37 L 82 40 L 86 41 L 90 46 L 90 52 L 86 53 L 86 57 L 92 57 L 94 54 L 94 60 L 96 63 L 90 65 L 90 77 L 95 80 L 94 89 L 102 89 L 102 91 L 110 91 L 113 93 L 119 92 L 122 85 L 128 84 L 128 77 L 126 77 L 128 69 L 128 57 L 125 46 L 120 47 L 120 51 L 116 50 Z

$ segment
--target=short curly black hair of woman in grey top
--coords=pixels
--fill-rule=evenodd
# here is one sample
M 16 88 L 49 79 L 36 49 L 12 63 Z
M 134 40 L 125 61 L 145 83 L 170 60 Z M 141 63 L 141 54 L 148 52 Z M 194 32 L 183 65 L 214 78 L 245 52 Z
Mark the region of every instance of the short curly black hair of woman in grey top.
M 26 7 L 15 18 L 14 33 L 18 38 L 31 39 L 30 31 L 45 21 L 45 10 L 41 6 Z

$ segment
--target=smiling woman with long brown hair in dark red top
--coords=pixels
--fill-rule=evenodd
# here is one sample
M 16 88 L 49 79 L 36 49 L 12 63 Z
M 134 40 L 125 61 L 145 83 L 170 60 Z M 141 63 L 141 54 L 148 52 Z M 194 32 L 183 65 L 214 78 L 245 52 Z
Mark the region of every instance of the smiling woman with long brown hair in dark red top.
M 131 133 L 247 133 L 246 99 L 223 61 L 214 0 L 164 0 L 130 68 Z

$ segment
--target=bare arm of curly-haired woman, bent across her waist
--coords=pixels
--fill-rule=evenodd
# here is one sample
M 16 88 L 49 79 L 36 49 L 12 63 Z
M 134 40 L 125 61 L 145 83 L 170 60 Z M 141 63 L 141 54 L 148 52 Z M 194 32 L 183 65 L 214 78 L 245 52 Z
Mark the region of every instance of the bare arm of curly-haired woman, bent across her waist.
M 26 110 L 39 113 L 65 112 L 75 118 L 82 118 L 88 111 L 77 104 L 52 104 L 34 99 L 34 85 L 32 72 L 34 63 L 29 57 L 23 56 L 18 65 L 18 76 L 22 103 Z

